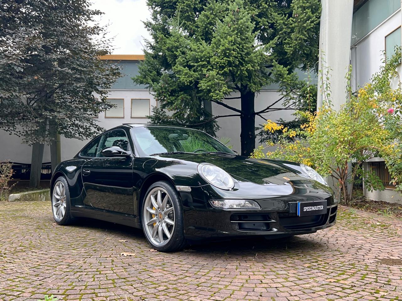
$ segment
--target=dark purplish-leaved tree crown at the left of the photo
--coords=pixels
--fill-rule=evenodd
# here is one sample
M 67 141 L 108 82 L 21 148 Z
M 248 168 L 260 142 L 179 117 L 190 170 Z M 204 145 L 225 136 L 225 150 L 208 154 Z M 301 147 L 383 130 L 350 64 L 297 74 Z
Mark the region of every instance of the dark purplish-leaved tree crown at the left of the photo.
M 19 0 L 0 4 L 0 128 L 26 143 L 103 130 L 90 116 L 111 108 L 106 96 L 120 76 L 101 14 L 88 0 Z M 93 92 L 99 94 L 96 100 Z

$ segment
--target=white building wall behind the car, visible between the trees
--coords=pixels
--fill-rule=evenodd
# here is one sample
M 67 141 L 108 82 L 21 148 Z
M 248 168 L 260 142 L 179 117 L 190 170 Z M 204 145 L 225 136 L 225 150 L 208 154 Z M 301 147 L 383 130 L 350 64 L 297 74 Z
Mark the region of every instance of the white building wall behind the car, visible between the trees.
M 97 97 L 97 95 L 94 96 Z M 232 96 L 235 97 L 236 94 Z M 263 110 L 280 97 L 280 93 L 276 90 L 261 91 L 260 94 L 256 95 L 255 110 Z M 111 90 L 108 98 L 124 99 L 124 118 L 105 118 L 105 113 L 100 113 L 95 120 L 106 130 L 123 123 L 148 123 L 149 120 L 147 118 L 131 118 L 132 98 L 149 98 L 150 110 L 152 110 L 153 106 L 156 106 L 156 101 L 148 90 Z M 226 102 L 235 108 L 240 108 L 240 100 L 226 100 Z M 275 107 L 279 106 L 281 104 L 275 105 Z M 218 104 L 213 104 L 212 112 L 214 116 L 237 114 Z M 292 120 L 294 119 L 291 116 L 292 113 L 293 111 L 291 110 L 285 110 L 262 114 L 265 119 L 256 116 L 255 126 L 260 127 L 267 119 L 274 121 L 277 121 L 279 118 Z M 229 137 L 231 139 L 230 144 L 234 145 L 233 149 L 240 153 L 240 117 L 219 118 L 218 124 L 221 126 L 221 129 L 217 132 L 217 136 Z M 9 135 L 7 132 L 0 130 L 0 140 L 4 141 L 2 146 L 0 146 L 0 161 L 10 160 L 18 163 L 31 163 L 32 148 L 27 144 L 23 144 L 20 137 Z M 257 138 L 256 145 L 259 145 L 258 140 Z M 62 136 L 60 140 L 62 161 L 72 159 L 86 143 L 88 143 L 88 140 L 68 139 Z M 43 162 L 50 162 L 50 147 L 48 145 L 45 145 Z

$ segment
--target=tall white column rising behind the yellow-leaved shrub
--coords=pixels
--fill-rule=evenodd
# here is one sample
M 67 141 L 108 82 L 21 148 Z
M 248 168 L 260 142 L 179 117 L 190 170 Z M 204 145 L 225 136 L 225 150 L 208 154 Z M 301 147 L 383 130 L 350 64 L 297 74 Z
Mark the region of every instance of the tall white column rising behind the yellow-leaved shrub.
M 321 0 L 320 57 L 324 51 L 325 65 L 330 74 L 331 98 L 335 110 L 346 101 L 345 75 L 350 64 L 353 0 Z M 321 70 L 321 59 L 318 69 Z M 324 66 L 325 67 L 325 66 Z M 322 105 L 323 93 L 318 78 L 317 106 Z

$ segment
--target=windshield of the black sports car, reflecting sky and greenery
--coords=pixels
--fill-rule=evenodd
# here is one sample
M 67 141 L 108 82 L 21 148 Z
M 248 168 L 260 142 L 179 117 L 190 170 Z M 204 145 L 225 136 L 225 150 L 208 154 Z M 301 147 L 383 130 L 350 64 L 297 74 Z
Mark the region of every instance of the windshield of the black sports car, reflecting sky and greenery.
M 163 153 L 235 153 L 205 132 L 168 126 L 141 126 L 131 129 L 131 135 L 142 155 Z

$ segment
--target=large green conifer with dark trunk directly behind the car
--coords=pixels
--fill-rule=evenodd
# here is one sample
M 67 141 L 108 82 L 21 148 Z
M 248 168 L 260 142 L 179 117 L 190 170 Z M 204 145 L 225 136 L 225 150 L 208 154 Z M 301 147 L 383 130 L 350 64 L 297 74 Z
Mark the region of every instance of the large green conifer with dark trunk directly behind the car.
M 190 126 L 239 116 L 241 153 L 255 147 L 255 118 L 298 108 L 302 83 L 296 68 L 310 69 L 318 56 L 319 0 L 148 0 L 145 61 L 137 83 L 148 85 L 175 123 Z M 254 109 L 255 96 L 271 83 L 282 96 Z M 230 102 L 240 100 L 240 108 Z M 283 101 L 285 105 L 283 105 Z M 210 116 L 207 104 L 233 111 Z M 155 116 L 163 117 L 163 114 Z

